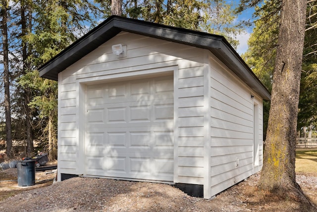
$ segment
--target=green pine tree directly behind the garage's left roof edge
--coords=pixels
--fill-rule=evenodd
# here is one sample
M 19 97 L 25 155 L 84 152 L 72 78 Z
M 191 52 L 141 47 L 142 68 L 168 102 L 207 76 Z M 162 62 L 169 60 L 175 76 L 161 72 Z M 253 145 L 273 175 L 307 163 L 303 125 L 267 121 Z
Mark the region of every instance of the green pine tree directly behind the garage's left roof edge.
M 33 91 L 27 104 L 38 111 L 41 139 L 51 160 L 57 157 L 57 82 L 38 76 L 37 67 L 88 32 L 85 24 L 96 25 L 99 9 L 88 1 L 40 0 L 33 5 L 33 29 L 23 36 L 23 42 L 32 46 L 26 63 L 29 69 L 19 78 L 24 90 Z M 80 9 L 80 10 L 79 10 Z

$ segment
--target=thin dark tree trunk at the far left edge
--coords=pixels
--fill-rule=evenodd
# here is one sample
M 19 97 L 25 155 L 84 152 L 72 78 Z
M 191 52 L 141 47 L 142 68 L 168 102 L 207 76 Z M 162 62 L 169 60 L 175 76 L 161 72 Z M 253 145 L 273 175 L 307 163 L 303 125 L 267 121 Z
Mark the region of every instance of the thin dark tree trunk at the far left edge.
M 4 110 L 5 110 L 5 133 L 6 133 L 6 155 L 12 157 L 12 127 L 11 127 L 11 109 L 10 109 L 10 87 L 9 87 L 9 53 L 8 53 L 8 7 L 7 0 L 2 1 L 2 37 L 3 37 L 3 81 L 4 81 Z

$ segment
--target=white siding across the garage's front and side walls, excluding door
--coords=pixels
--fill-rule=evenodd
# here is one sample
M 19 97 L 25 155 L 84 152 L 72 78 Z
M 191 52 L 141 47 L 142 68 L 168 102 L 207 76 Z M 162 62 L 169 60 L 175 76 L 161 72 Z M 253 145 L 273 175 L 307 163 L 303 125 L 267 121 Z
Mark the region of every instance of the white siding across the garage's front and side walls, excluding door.
M 126 57 L 112 54 L 115 44 L 126 46 Z M 83 167 L 87 86 L 170 74 L 174 77 L 173 181 L 204 185 L 204 198 L 210 198 L 260 170 L 261 97 L 207 50 L 121 32 L 58 75 L 58 173 L 89 174 Z M 259 106 L 257 167 L 254 104 Z

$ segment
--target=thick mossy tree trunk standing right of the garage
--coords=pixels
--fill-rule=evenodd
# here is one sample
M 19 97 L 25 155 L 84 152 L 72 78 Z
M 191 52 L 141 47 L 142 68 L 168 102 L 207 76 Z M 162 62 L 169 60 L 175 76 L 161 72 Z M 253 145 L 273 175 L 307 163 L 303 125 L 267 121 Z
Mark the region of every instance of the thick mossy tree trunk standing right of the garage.
M 306 201 L 295 179 L 295 145 L 306 0 L 282 0 L 264 166 L 259 188 Z

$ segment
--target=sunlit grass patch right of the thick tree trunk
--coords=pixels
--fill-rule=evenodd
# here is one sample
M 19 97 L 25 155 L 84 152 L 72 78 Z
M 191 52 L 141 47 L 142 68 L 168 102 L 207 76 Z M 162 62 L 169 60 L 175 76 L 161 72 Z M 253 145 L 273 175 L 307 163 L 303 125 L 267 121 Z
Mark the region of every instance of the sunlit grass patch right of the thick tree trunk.
M 317 176 L 317 148 L 296 150 L 295 171 Z

